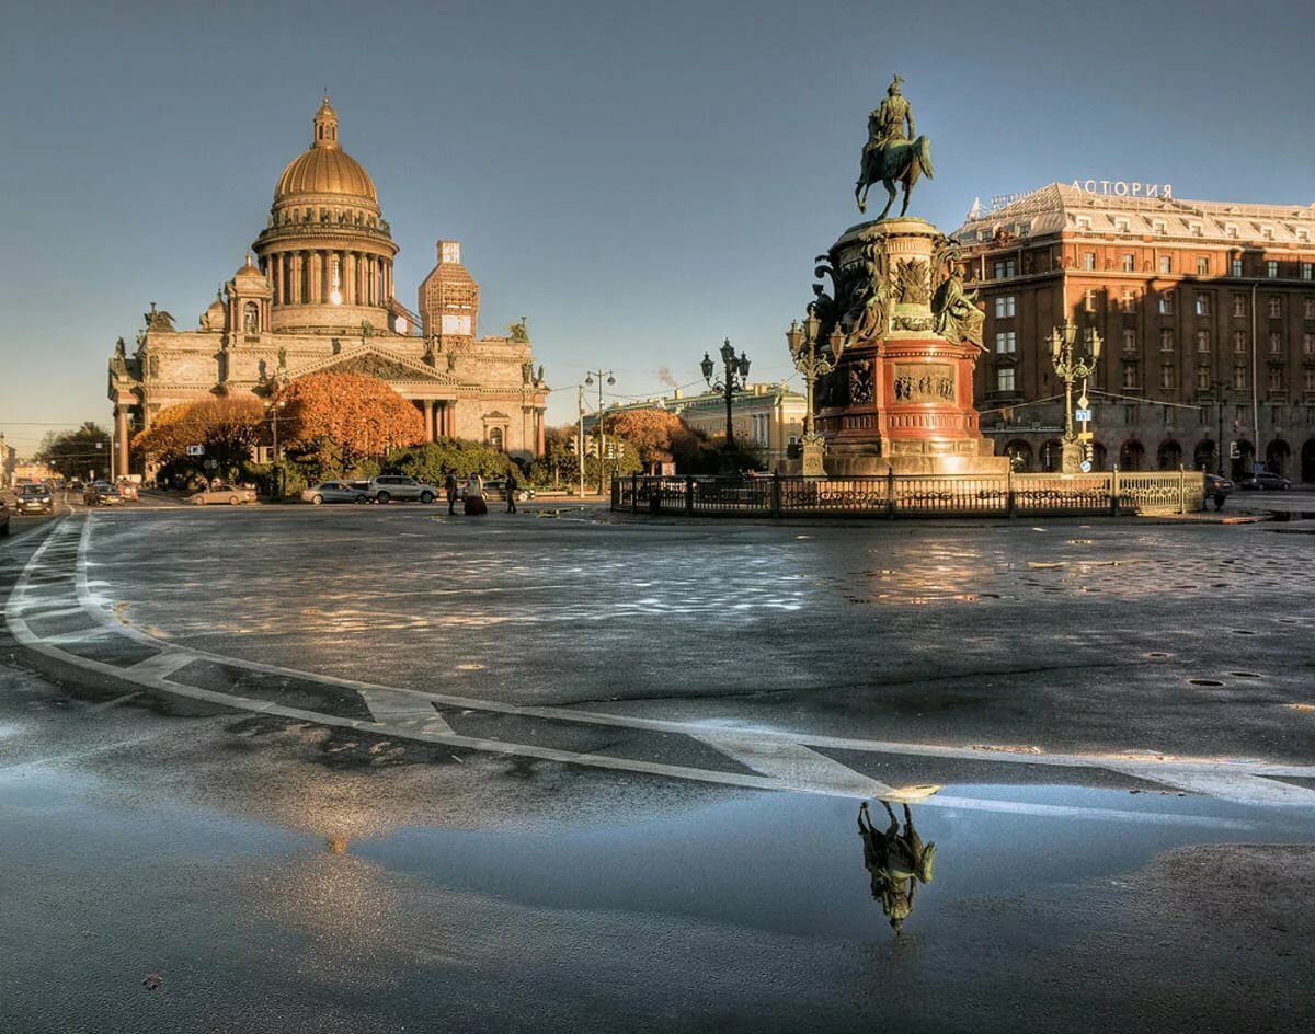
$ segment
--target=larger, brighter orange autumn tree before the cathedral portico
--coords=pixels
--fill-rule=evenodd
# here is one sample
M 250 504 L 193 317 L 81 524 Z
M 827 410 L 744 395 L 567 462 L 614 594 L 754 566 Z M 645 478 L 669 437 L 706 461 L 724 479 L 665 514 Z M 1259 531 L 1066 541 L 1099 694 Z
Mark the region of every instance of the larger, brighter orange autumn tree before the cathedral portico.
M 289 452 L 325 470 L 347 472 L 362 457 L 425 438 L 419 410 L 377 377 L 312 373 L 288 385 L 280 399 L 279 426 Z

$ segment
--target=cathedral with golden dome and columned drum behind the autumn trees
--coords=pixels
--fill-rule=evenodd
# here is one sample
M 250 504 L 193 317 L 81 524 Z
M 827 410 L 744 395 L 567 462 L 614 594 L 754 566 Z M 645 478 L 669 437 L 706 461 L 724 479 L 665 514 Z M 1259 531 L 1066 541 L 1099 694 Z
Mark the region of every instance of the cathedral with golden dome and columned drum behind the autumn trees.
M 118 339 L 109 360 L 118 470 L 141 469 L 129 440 L 162 409 L 206 395 L 268 398 L 323 371 L 385 381 L 421 410 L 427 440 L 543 452 L 547 388 L 525 322 L 506 336 L 477 336 L 480 289 L 456 240 L 438 242 L 418 315 L 397 301 L 397 244 L 373 181 L 338 142 L 327 97 L 310 148 L 279 176 L 252 251 L 197 330 L 176 328 L 153 302 L 135 352 Z

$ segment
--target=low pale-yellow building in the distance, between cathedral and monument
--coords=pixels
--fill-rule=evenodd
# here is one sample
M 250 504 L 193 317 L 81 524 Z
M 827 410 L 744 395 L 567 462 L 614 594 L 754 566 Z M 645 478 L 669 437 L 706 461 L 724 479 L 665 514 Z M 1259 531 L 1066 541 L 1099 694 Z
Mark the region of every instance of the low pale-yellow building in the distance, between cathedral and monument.
M 644 402 L 608 406 L 606 415 L 627 410 L 664 409 L 677 414 L 694 431 L 709 438 L 726 434 L 726 397 L 721 392 L 685 395 L 676 389 L 669 395 Z M 803 435 L 805 398 L 784 384 L 751 384 L 736 392 L 731 405 L 731 428 L 738 441 L 757 452 L 769 469 L 784 460 Z M 588 435 L 597 427 L 597 415 L 584 418 Z

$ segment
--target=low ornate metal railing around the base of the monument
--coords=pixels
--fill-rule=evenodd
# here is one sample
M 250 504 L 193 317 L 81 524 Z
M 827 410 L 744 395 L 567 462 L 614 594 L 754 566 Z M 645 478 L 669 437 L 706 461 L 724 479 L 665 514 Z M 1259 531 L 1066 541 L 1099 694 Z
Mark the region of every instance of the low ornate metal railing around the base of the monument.
M 1044 516 L 1190 514 L 1205 508 L 1193 470 L 1097 474 L 631 477 L 611 508 L 689 516 Z

